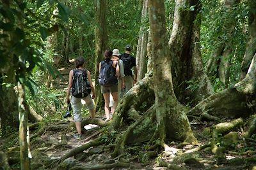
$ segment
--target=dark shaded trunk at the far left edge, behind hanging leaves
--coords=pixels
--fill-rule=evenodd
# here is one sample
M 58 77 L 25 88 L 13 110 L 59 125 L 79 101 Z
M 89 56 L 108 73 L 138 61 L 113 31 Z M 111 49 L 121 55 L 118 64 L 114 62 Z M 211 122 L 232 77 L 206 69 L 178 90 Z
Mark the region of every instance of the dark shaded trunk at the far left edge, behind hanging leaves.
M 12 1 L 1 1 L 4 8 L 10 8 L 10 4 Z M 8 17 L 2 18 L 2 20 L 6 23 L 10 22 Z M 12 32 L 4 32 L 0 31 L 0 35 L 8 36 L 7 38 L 1 38 L 1 44 L 4 46 L 0 46 L 0 50 L 3 51 L 2 55 L 6 55 L 6 65 L 1 67 L 0 70 L 0 119 L 1 119 L 1 131 L 3 134 L 6 134 L 6 130 L 10 130 L 10 128 L 18 129 L 19 128 L 19 110 L 18 110 L 18 101 L 15 90 L 13 89 L 15 86 L 15 70 L 14 67 L 14 59 L 13 59 L 13 39 L 15 39 L 15 35 Z M 3 36 L 3 37 L 4 37 Z

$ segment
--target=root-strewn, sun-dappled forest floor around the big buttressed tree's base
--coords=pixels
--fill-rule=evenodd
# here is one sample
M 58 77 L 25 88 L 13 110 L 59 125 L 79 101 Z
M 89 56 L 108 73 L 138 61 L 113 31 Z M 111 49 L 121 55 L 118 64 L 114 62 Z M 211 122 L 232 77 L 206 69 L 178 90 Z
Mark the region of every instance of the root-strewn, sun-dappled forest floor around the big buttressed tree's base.
M 54 88 L 65 91 L 72 66 L 67 64 L 59 68 L 65 81 L 55 80 Z M 198 143 L 191 145 L 182 141 L 166 141 L 168 148 L 164 149 L 148 141 L 130 142 L 123 148 L 124 152 L 113 156 L 118 140 L 124 138 L 128 126 L 116 131 L 111 121 L 104 122 L 104 113 L 98 112 L 95 119 L 85 117 L 83 121 L 83 126 L 97 124 L 98 127 L 83 129 L 82 139 L 75 139 L 76 127 L 72 117 L 62 116 L 54 115 L 51 120 L 29 125 L 32 169 L 256 168 L 256 139 L 244 137 L 248 124 L 244 124 L 247 120 L 242 118 L 209 120 L 189 116 Z M 219 131 L 223 124 L 225 130 Z M 1 150 L 6 153 L 10 167 L 19 169 L 19 134 L 13 133 L 1 138 Z

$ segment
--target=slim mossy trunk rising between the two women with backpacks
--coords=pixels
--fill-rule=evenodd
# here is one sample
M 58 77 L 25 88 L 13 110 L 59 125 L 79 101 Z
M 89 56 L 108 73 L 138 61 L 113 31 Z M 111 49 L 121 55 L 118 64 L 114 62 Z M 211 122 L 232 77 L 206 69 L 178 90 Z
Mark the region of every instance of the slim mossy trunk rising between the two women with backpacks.
M 95 91 L 96 91 L 96 110 L 104 106 L 103 97 L 100 92 L 100 85 L 98 83 L 99 77 L 99 63 L 104 59 L 104 51 L 108 44 L 108 31 L 107 31 L 107 4 L 108 1 L 96 0 L 96 20 L 98 26 L 95 33 Z

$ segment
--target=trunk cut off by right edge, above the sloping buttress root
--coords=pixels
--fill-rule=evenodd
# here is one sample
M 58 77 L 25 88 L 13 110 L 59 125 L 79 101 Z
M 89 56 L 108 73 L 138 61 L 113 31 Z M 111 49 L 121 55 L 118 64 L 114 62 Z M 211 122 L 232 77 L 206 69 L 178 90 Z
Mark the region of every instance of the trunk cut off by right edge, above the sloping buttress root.
M 250 11 L 249 11 L 249 39 L 246 45 L 244 53 L 244 59 L 241 66 L 241 80 L 246 76 L 250 62 L 252 61 L 253 55 L 256 52 L 256 1 L 250 0 Z

